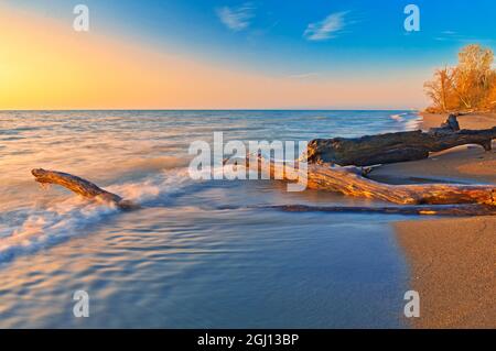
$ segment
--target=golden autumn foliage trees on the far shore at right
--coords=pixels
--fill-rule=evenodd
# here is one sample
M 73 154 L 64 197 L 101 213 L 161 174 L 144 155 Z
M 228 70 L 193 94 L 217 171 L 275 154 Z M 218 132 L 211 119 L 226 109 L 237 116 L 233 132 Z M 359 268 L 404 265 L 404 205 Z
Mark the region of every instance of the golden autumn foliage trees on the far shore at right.
M 468 45 L 459 54 L 456 67 L 434 72 L 424 84 L 433 112 L 496 109 L 494 53 L 481 45 Z

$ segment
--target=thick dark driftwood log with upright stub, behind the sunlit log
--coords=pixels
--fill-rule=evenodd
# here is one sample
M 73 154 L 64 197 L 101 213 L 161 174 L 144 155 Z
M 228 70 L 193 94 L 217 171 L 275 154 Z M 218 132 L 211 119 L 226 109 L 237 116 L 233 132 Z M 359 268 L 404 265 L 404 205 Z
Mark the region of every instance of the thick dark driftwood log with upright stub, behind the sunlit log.
M 369 166 L 422 160 L 429 157 L 430 152 L 465 144 L 477 144 L 489 151 L 494 139 L 496 127 L 460 130 L 456 117 L 452 114 L 441 128 L 433 128 L 429 132 L 419 130 L 353 139 L 315 139 L 309 143 L 308 155 L 310 163 Z

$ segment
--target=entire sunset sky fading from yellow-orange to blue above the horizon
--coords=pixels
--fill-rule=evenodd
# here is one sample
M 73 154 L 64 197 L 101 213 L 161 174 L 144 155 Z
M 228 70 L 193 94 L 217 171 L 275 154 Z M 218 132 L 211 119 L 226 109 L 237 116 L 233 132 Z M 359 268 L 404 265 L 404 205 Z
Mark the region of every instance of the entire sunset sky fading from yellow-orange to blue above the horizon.
M 496 48 L 496 2 L 2 0 L 0 43 L 0 109 L 423 108 L 435 67 Z

